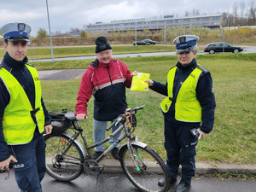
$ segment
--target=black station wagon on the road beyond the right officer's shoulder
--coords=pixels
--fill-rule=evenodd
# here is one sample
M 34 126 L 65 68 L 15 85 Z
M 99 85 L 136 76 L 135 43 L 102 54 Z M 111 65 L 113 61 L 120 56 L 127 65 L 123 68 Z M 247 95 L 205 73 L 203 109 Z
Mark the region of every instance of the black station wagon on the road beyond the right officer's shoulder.
M 231 44 L 226 43 L 212 43 L 207 44 L 204 51 L 209 52 L 209 54 L 214 54 L 215 52 L 233 52 L 238 53 L 243 49 L 241 47 L 232 46 Z

